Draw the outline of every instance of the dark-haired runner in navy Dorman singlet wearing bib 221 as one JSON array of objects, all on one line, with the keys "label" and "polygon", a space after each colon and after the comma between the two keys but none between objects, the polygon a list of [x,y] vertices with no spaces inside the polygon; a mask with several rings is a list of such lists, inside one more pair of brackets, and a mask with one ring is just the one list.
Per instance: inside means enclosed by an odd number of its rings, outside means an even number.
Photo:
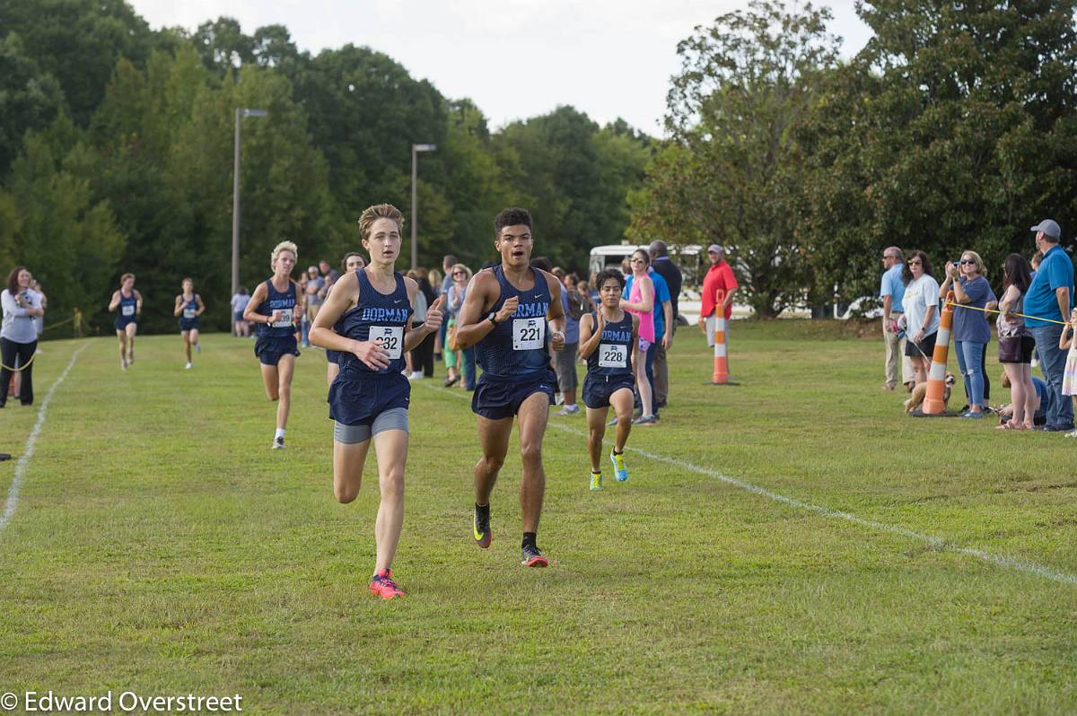
[{"label": "dark-haired runner in navy Dorman singlet wearing bib 221", "polygon": [[475,465],[472,531],[479,547],[490,546],[490,493],[505,462],[513,418],[517,417],[523,462],[520,563],[547,566],[536,533],[546,491],[542,439],[557,384],[549,349],[564,348],[561,283],[530,266],[534,239],[527,209],[505,209],[494,219],[493,227],[493,245],[501,254],[501,265],[472,278],[457,319],[457,342],[460,348],[475,346],[475,359],[482,368],[472,395],[482,446],[482,457]]}]

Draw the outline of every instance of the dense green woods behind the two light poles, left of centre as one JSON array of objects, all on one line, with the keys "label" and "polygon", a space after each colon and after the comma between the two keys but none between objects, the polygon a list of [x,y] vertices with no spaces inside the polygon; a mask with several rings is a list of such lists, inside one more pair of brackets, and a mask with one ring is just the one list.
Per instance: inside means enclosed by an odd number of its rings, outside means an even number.
[{"label": "dense green woods behind the two light poles, left of centre", "polygon": [[242,120],[250,289],[281,239],[298,243],[302,267],[336,265],[360,248],[365,207],[409,213],[412,143],[437,145],[419,160],[421,265],[453,253],[477,268],[493,216],[520,205],[542,253],[583,269],[590,245],[624,237],[628,191],[655,149],[625,122],[600,126],[571,107],[492,131],[474,102],[391,57],[300,52],[279,25],[246,34],[221,17],[154,31],[123,0],[3,0],[0,33],[0,266],[26,264],[54,315],[78,307],[103,331],[126,271],[145,328],[172,328],[186,276],[207,323],[228,325],[236,108],[268,112]]}]

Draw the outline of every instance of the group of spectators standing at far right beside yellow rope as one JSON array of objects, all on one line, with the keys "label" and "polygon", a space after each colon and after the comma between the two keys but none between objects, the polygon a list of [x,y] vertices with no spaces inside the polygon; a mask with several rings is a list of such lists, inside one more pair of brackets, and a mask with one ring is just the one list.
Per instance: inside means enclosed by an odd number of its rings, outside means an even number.
[{"label": "group of spectators standing at far right beside yellow rope", "polygon": [[[963,251],[941,268],[933,267],[923,251],[883,251],[883,390],[896,390],[899,363],[906,390],[928,379],[940,311],[952,296],[953,351],[966,398],[961,417],[979,420],[997,412],[999,430],[1039,429],[1077,437],[1074,264],[1061,247],[1057,222],[1047,219],[1031,230],[1035,253],[1029,261],[1019,253],[1006,256],[994,273],[998,293],[976,251]],[[989,359],[993,339],[995,360]],[[1009,403],[998,408],[990,404],[989,364],[994,363],[1002,364],[1002,385],[1010,391]],[[1036,365],[1043,379],[1033,375]]]}]

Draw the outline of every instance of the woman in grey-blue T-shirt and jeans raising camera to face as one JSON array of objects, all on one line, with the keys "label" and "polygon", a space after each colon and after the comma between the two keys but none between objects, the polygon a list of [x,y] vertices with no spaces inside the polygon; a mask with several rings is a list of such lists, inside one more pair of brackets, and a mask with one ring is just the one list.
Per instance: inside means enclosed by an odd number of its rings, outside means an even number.
[{"label": "woman in grey-blue T-shirt and jeans raising camera to face", "polygon": [[[954,265],[956,264],[956,265]],[[949,291],[957,304],[953,312],[953,348],[957,353],[957,367],[965,379],[968,410],[962,418],[980,419],[987,402],[983,398],[983,350],[991,341],[991,326],[982,310],[989,301],[998,300],[984,278],[983,259],[975,251],[965,251],[961,261],[947,263],[946,280],[939,287],[939,297],[946,300]],[[968,308],[963,308],[968,307]]]}]

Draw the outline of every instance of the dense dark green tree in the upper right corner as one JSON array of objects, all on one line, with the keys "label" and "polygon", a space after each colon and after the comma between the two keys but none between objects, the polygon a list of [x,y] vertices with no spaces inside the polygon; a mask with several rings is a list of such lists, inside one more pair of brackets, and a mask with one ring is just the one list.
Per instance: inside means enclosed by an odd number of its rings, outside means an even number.
[{"label": "dense dark green tree in the upper right corner", "polygon": [[[879,244],[933,258],[1030,253],[1027,227],[1072,227],[1077,160],[1073,1],[864,2],[880,73],[859,150]],[[992,277],[997,284],[997,273]]]}]

